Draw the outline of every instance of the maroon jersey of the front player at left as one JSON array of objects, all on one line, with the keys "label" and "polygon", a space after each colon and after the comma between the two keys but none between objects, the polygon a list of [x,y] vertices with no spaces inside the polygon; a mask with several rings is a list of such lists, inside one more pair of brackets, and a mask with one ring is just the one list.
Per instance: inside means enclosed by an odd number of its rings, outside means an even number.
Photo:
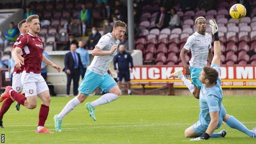
[{"label": "maroon jersey of the front player at left", "polygon": [[41,73],[41,62],[43,59],[43,42],[41,37],[36,37],[29,32],[21,38],[17,44],[25,52],[24,57],[24,71],[27,73]]}]

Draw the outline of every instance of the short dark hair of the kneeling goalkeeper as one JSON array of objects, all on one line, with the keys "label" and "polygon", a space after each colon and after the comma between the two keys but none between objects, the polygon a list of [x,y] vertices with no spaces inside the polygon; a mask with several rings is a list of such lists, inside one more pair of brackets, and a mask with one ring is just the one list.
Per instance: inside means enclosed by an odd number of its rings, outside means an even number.
[{"label": "short dark hair of the kneeling goalkeeper", "polygon": [[210,84],[213,84],[218,80],[219,73],[216,69],[210,66],[203,66],[203,71],[205,74],[205,79],[208,79]]}]

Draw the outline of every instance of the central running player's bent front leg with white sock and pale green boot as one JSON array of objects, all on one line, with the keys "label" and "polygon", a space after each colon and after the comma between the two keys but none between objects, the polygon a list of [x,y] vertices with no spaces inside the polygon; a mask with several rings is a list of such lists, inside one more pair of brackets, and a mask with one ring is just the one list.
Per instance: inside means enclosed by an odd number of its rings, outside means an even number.
[{"label": "central running player's bent front leg with white sock and pale green boot", "polygon": [[96,117],[94,114],[95,107],[115,101],[121,96],[121,90],[117,86],[117,82],[115,82],[114,79],[109,74],[104,75],[104,78],[101,82],[101,85],[99,85],[99,87],[101,87],[103,91],[109,91],[109,93],[104,94],[103,96],[96,99],[95,101],[91,103],[86,103],[85,105],[88,112],[90,113],[90,116],[94,121],[96,121]]}]

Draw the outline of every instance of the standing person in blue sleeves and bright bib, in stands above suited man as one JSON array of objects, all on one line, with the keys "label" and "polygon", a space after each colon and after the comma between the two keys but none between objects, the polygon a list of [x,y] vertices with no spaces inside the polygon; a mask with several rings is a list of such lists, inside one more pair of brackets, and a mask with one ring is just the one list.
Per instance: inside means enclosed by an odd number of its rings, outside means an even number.
[{"label": "standing person in blue sleeves and bright bib, in stands above suited man", "polygon": [[90,14],[90,11],[86,9],[85,4],[82,4],[81,7],[82,7],[82,10],[79,13],[79,20],[82,22],[82,35],[85,36],[86,25],[89,24],[91,14]]}]

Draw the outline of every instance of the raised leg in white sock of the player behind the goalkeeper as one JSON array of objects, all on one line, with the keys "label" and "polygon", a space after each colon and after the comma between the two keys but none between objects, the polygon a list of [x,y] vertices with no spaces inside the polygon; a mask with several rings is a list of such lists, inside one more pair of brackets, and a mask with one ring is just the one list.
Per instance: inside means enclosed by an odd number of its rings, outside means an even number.
[{"label": "raised leg in white sock of the player behind the goalkeeper", "polygon": [[192,85],[190,80],[187,80],[185,78],[185,76],[183,75],[181,70],[178,70],[178,71],[176,71],[174,73],[171,73],[171,75],[169,75],[168,78],[179,78],[179,79],[181,79],[185,83],[187,88],[190,90],[191,94],[193,94],[194,85]]}]

